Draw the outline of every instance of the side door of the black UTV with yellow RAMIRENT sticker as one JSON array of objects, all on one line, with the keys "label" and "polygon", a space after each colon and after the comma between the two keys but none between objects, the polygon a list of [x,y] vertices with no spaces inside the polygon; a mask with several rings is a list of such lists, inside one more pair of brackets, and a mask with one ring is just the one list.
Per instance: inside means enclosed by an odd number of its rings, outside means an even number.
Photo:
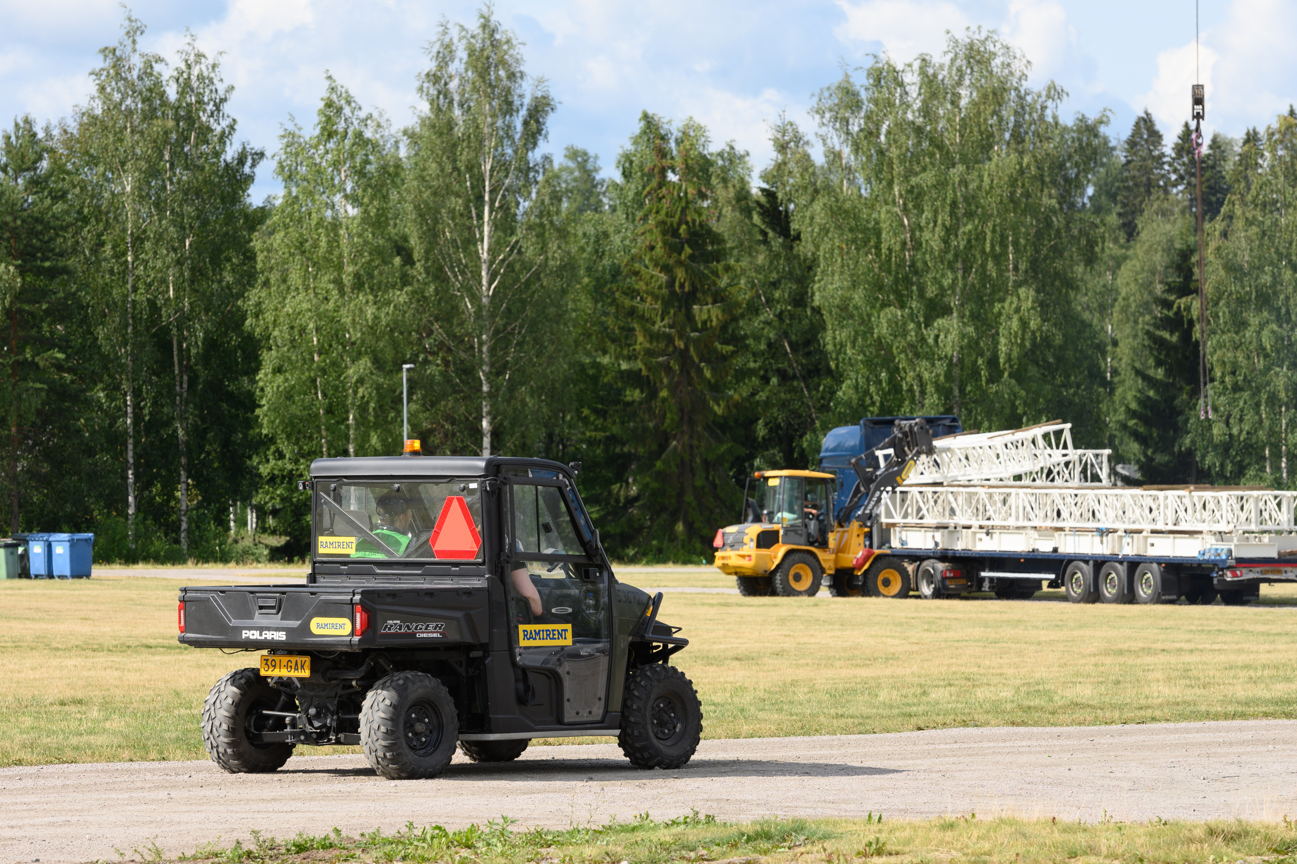
[{"label": "side door of the black UTV with yellow RAMIRENT sticker", "polygon": [[503,582],[520,701],[543,701],[543,683],[556,697],[554,722],[597,723],[608,701],[608,574],[581,544],[565,479],[507,477],[506,488]]}]

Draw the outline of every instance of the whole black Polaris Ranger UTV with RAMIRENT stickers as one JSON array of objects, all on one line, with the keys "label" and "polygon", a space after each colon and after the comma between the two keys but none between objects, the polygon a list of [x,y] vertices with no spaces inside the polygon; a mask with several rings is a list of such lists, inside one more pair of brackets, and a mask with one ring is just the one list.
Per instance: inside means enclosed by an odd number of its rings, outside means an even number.
[{"label": "whole black Polaris Ranger UTV with RAMIRENT stickers", "polygon": [[211,759],[275,771],[298,744],[361,745],[381,776],[432,777],[455,745],[515,759],[532,738],[617,736],[678,768],[702,734],[689,641],[661,595],[620,584],[573,486],[538,459],[320,459],[305,585],[180,592],[180,641],[265,652],[202,710]]}]

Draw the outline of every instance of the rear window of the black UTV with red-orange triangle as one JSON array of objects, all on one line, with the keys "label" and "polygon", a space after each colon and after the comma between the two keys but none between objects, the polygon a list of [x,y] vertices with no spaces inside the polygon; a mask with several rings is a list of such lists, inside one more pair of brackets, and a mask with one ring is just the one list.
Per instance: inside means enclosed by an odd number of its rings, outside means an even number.
[{"label": "rear window of the black UTV with red-orange triangle", "polygon": [[315,557],[482,560],[481,491],[473,479],[315,483]]}]

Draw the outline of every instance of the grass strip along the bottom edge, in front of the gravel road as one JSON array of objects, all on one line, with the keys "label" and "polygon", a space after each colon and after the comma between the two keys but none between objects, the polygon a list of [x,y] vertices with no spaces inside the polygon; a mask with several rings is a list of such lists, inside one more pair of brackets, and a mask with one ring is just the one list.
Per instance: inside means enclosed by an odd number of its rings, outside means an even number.
[{"label": "grass strip along the bottom edge, in front of the gravel road", "polygon": [[[882,821],[767,819],[720,823],[694,811],[658,823],[647,813],[601,828],[518,829],[501,819],[485,828],[447,830],[412,824],[396,833],[359,837],[298,834],[275,839],[254,834],[253,842],[208,845],[180,860],[220,864],[297,864],[314,861],[455,861],[538,864],[755,864],[815,861],[896,864],[969,861],[1023,864],[1032,861],[1237,861],[1294,860],[1293,824],[1258,821],[1083,824],[1053,819],[978,819],[968,816]],[[165,850],[137,850],[145,861],[169,860]]]}]

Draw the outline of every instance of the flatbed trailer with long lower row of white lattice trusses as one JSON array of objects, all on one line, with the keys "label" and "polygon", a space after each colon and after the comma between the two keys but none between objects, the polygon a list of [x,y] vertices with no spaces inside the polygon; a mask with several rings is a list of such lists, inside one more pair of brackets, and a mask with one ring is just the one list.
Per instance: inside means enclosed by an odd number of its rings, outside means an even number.
[{"label": "flatbed trailer with long lower row of white lattice trusses", "polygon": [[1049,587],[1073,602],[1241,605],[1297,582],[1294,505],[1297,492],[1239,487],[901,486],[869,567],[901,562],[922,596]]}]

